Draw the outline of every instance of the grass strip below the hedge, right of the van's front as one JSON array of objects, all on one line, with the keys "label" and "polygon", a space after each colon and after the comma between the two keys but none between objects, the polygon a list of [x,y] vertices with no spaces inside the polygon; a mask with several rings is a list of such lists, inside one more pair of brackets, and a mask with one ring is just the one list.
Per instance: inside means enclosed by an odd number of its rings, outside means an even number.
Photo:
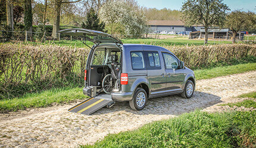
[{"label": "grass strip below the hedge, right of the van's front", "polygon": [[198,69],[194,70],[195,77],[197,80],[200,79],[211,79],[218,76],[232,75],[236,73],[248,72],[256,70],[256,63],[246,63],[232,66],[220,66],[211,69]]}]

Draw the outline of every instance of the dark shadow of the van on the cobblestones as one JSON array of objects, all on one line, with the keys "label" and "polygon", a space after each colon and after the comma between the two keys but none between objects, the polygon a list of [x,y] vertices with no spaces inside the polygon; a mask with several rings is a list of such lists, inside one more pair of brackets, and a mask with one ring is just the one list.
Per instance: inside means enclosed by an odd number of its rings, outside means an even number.
[{"label": "dark shadow of the van on the cobblestones", "polygon": [[148,104],[141,111],[134,111],[129,107],[129,102],[117,102],[111,108],[102,108],[92,115],[108,114],[110,112],[126,111],[138,115],[159,114],[159,115],[180,115],[197,108],[207,108],[222,102],[220,96],[195,91],[192,98],[185,99],[180,95],[169,95],[148,99]]}]

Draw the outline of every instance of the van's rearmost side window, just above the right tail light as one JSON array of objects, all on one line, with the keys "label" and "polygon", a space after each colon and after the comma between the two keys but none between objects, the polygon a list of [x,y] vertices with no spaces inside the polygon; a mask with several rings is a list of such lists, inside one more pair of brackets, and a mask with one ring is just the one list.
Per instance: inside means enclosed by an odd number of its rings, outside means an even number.
[{"label": "van's rearmost side window, just above the right tail light", "polygon": [[142,52],[131,52],[132,68],[133,69],[145,69],[145,63]]}]

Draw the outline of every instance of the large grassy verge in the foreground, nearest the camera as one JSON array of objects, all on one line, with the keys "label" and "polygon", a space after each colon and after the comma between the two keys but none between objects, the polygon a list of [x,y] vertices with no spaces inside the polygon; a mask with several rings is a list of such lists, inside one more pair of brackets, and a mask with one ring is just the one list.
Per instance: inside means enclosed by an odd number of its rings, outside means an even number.
[{"label": "large grassy verge in the foreground, nearest the camera", "polygon": [[254,147],[256,111],[195,111],[155,121],[134,131],[109,134],[82,147]]}]

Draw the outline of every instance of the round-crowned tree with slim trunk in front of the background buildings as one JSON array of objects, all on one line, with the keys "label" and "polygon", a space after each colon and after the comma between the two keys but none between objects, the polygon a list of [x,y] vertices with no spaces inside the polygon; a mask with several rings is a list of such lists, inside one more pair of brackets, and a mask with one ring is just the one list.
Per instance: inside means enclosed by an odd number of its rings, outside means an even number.
[{"label": "round-crowned tree with slim trunk in front of the background buildings", "polygon": [[182,18],[187,26],[203,25],[205,28],[204,43],[208,41],[208,29],[222,26],[229,10],[223,0],[187,0],[182,5]]}]

